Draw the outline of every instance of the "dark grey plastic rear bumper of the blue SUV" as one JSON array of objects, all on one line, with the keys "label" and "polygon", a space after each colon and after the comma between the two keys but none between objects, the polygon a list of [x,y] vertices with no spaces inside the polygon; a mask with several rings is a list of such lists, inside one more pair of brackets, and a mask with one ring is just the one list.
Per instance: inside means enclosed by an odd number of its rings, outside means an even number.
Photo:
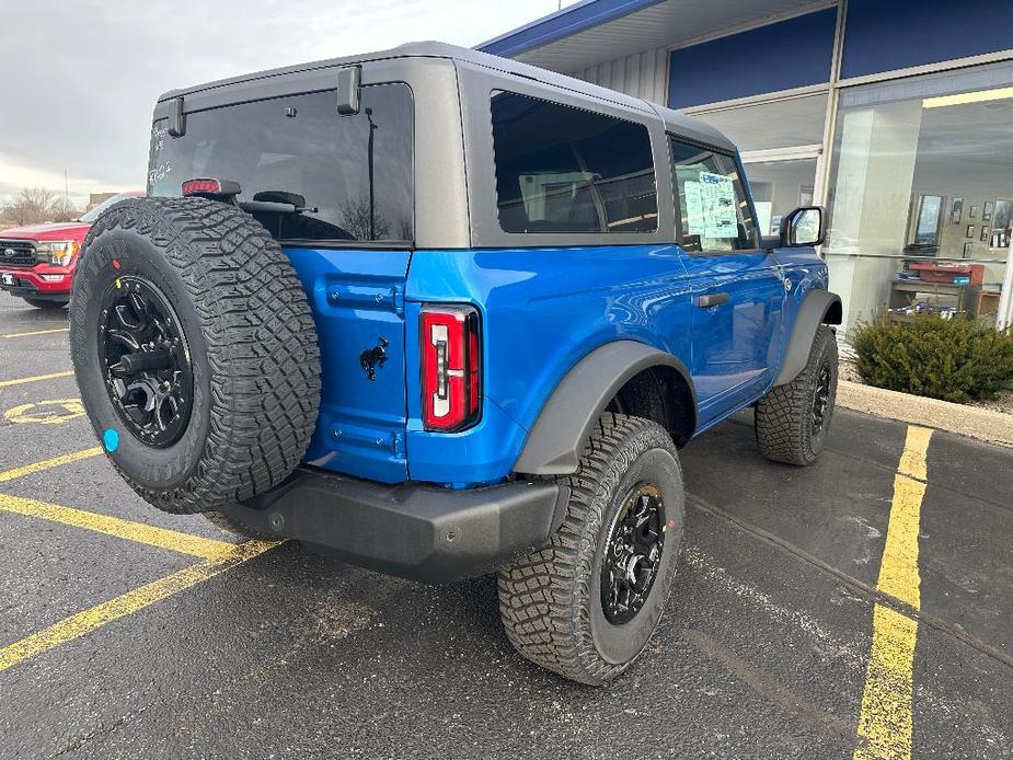
[{"label": "dark grey plastic rear bumper of the blue SUV", "polygon": [[451,491],[300,467],[275,491],[223,511],[353,564],[441,583],[482,575],[544,544],[562,525],[568,498],[565,487],[548,481]]}]

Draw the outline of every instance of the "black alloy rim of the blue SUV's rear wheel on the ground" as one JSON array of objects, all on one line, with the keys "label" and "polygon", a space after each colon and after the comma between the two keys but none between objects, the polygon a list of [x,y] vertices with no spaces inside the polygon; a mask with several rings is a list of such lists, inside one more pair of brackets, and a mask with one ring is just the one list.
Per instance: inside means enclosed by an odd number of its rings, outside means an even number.
[{"label": "black alloy rim of the blue SUV's rear wheel on the ground", "polygon": [[641,483],[615,514],[601,562],[601,609],[623,625],[643,609],[661,564],[665,505],[656,485]]}]

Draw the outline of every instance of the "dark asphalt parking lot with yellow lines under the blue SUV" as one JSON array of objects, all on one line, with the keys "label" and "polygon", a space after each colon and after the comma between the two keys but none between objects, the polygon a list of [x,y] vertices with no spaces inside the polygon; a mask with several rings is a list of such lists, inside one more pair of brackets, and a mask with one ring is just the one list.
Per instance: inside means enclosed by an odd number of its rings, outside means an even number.
[{"label": "dark asphalt parking lot with yellow lines under the blue SUV", "polygon": [[748,415],[702,436],[668,612],[591,689],[514,653],[490,578],[149,507],[66,325],[0,295],[4,759],[1013,757],[1013,450],[845,411],[807,470]]}]

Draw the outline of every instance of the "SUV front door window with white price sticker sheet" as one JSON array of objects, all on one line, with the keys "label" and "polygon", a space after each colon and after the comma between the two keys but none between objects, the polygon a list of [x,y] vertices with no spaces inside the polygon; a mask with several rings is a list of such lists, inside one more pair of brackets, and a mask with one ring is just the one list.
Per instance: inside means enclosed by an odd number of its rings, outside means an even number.
[{"label": "SUV front door window with white price sticker sheet", "polygon": [[735,159],[671,138],[671,160],[681,212],[679,244],[703,253],[756,249],[756,224]]}]

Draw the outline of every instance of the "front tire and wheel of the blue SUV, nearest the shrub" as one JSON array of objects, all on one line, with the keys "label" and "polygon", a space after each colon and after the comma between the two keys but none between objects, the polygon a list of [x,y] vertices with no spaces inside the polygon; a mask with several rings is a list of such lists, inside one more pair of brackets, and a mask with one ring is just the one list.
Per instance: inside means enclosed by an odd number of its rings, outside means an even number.
[{"label": "front tire and wheel of the blue SUV, nearest the shrub", "polygon": [[837,338],[820,325],[805,369],[757,402],[757,444],[764,457],[798,467],[816,461],[833,419],[837,376]]}]

